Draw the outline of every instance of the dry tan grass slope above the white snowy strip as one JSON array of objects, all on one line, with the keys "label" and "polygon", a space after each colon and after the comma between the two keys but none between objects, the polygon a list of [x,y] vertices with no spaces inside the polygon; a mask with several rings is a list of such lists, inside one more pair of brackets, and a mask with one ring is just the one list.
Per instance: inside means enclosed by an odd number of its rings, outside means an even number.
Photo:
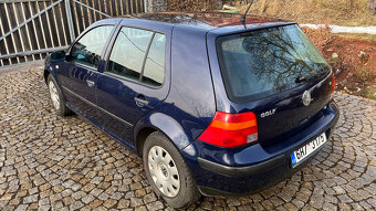
[{"label": "dry tan grass slope above the white snowy strip", "polygon": [[[293,20],[299,23],[338,24],[347,27],[376,25],[376,15],[368,8],[368,0],[268,0],[264,15]],[[243,12],[247,6],[238,8]],[[260,13],[261,1],[252,6]]]}]

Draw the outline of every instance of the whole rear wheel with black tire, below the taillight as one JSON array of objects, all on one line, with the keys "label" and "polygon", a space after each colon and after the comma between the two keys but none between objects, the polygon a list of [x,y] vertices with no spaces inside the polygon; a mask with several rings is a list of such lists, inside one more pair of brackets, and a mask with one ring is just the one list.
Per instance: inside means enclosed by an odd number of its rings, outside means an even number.
[{"label": "whole rear wheel with black tire, below the taillight", "polygon": [[170,207],[189,205],[201,196],[181,155],[161,133],[155,131],[146,138],[143,160],[154,192]]}]

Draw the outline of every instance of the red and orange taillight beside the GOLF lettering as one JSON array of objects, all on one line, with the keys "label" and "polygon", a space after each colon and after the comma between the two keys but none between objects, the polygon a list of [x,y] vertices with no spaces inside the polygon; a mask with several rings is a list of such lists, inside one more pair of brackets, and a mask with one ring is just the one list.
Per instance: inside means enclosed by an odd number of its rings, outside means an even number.
[{"label": "red and orange taillight beside the GOLF lettering", "polygon": [[198,138],[220,147],[238,147],[258,140],[258,123],[251,112],[229,114],[217,112],[209,127]]}]

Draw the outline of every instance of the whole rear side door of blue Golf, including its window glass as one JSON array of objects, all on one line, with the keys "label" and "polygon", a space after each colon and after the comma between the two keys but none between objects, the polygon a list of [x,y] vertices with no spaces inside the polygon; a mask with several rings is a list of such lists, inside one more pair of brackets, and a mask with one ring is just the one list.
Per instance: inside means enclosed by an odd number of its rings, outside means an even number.
[{"label": "whole rear side door of blue Golf, including its window glass", "polygon": [[119,28],[97,81],[97,105],[105,129],[133,140],[137,120],[167,97],[169,44],[164,31]]}]

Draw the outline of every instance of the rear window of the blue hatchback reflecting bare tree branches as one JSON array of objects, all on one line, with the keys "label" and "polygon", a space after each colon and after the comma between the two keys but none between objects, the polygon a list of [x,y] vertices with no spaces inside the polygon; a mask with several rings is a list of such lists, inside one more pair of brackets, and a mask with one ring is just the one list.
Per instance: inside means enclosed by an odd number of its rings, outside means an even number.
[{"label": "rear window of the blue hatchback reflecting bare tree branches", "polygon": [[217,50],[226,89],[236,102],[281,93],[330,70],[297,25],[220,36]]}]

